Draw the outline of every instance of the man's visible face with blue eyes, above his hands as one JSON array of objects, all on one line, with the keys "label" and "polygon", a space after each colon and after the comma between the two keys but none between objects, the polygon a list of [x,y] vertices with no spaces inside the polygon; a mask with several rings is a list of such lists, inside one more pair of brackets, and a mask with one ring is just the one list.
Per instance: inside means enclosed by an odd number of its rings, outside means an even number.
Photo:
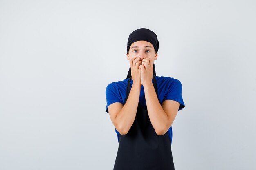
[{"label": "man's visible face with blue eyes, above his hands", "polygon": [[141,60],[148,58],[152,62],[152,65],[154,64],[154,60],[157,60],[157,53],[155,53],[154,46],[147,41],[136,41],[132,43],[126,56],[127,60],[131,60],[134,57],[139,57]]}]

